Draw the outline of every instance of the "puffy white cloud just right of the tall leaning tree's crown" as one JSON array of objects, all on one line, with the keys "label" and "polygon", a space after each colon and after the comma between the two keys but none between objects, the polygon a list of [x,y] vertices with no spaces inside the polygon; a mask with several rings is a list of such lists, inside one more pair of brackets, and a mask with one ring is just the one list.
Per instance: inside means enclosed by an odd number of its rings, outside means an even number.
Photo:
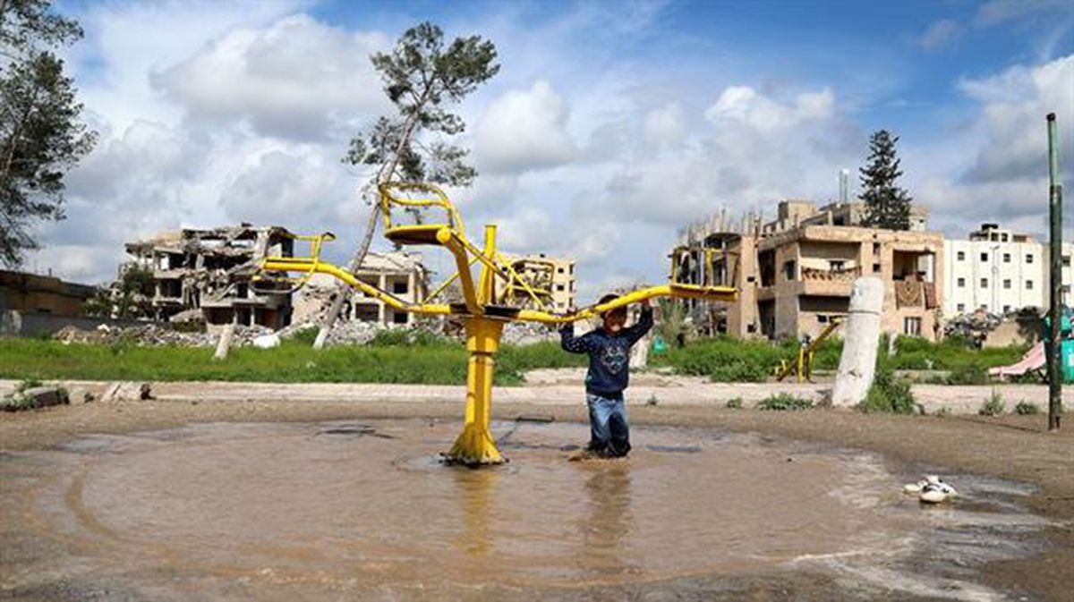
[{"label": "puffy white cloud just right of the tall leaning tree's crown", "polygon": [[522,173],[566,163],[576,153],[567,118],[563,98],[543,79],[528,90],[506,92],[478,120],[478,171]]}]

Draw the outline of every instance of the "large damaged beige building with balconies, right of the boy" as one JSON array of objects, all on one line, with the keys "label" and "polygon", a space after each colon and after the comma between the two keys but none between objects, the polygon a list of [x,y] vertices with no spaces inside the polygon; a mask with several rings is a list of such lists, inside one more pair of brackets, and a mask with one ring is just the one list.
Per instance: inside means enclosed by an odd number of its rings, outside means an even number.
[{"label": "large damaged beige building with balconies, right of the boy", "polygon": [[924,230],[923,209],[912,216],[918,230],[865,227],[858,205],[783,201],[768,223],[748,216],[688,232],[672,252],[672,278],[739,290],[735,303],[693,304],[694,325],[735,337],[815,337],[846,315],[854,281],[876,276],[884,332],[940,338],[943,235]]}]

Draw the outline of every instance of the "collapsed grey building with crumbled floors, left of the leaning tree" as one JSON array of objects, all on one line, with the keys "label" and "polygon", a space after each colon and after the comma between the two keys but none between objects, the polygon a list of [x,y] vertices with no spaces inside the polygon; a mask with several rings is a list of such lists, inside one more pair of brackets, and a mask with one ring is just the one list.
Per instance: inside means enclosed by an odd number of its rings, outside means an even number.
[{"label": "collapsed grey building with crumbled floors, left of the leaning tree", "polygon": [[243,223],[163,232],[126,249],[132,263],[153,271],[155,319],[200,313],[211,331],[232,322],[280,328],[291,320],[290,295],[255,291],[249,266],[265,256],[291,256],[293,244],[287,229]]}]

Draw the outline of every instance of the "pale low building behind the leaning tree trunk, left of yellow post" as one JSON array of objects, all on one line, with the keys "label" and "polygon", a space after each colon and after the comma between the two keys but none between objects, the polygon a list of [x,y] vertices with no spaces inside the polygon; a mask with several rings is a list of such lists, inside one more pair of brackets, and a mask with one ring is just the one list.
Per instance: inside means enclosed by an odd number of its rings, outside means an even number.
[{"label": "pale low building behind the leaning tree trunk, left of yellow post", "polygon": [[[422,303],[429,294],[429,271],[422,264],[421,253],[371,251],[362,262],[358,278],[407,303]],[[326,309],[326,299],[335,290],[336,280],[333,277],[326,274],[314,275],[293,299],[293,321],[318,322]],[[386,326],[410,326],[417,317],[413,313],[396,311],[380,299],[353,290],[344,304],[339,319],[379,322]]]}]

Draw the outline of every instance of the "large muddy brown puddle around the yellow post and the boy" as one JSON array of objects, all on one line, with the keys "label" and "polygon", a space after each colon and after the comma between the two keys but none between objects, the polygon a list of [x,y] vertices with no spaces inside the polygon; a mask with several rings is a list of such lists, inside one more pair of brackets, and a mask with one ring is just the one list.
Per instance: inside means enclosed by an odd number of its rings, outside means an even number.
[{"label": "large muddy brown puddle around the yellow post and the boy", "polygon": [[200,424],[5,454],[0,591],[575,599],[815,575],[846,597],[998,600],[975,567],[1039,550],[1046,525],[1018,503],[1031,488],[996,479],[957,476],[958,504],[920,506],[865,452],[642,427],[628,459],[571,462],[584,425],[503,423],[512,461],[471,470],[438,461],[456,429]]}]

